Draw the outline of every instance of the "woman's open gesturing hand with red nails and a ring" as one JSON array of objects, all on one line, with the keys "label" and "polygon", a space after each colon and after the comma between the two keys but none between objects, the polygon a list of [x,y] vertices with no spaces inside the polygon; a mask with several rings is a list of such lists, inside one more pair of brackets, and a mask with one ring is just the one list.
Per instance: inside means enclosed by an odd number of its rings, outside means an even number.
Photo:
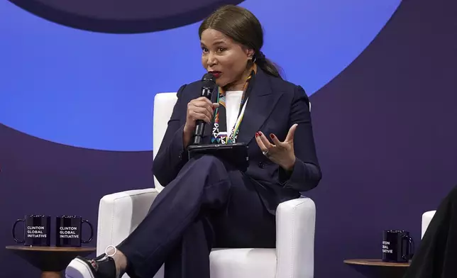
[{"label": "woman's open gesturing hand with red nails and a ring", "polygon": [[262,132],[255,133],[255,141],[263,154],[286,171],[292,171],[295,164],[294,133],[296,129],[297,123],[290,128],[284,142],[277,139],[276,135],[270,134],[273,144]]}]

